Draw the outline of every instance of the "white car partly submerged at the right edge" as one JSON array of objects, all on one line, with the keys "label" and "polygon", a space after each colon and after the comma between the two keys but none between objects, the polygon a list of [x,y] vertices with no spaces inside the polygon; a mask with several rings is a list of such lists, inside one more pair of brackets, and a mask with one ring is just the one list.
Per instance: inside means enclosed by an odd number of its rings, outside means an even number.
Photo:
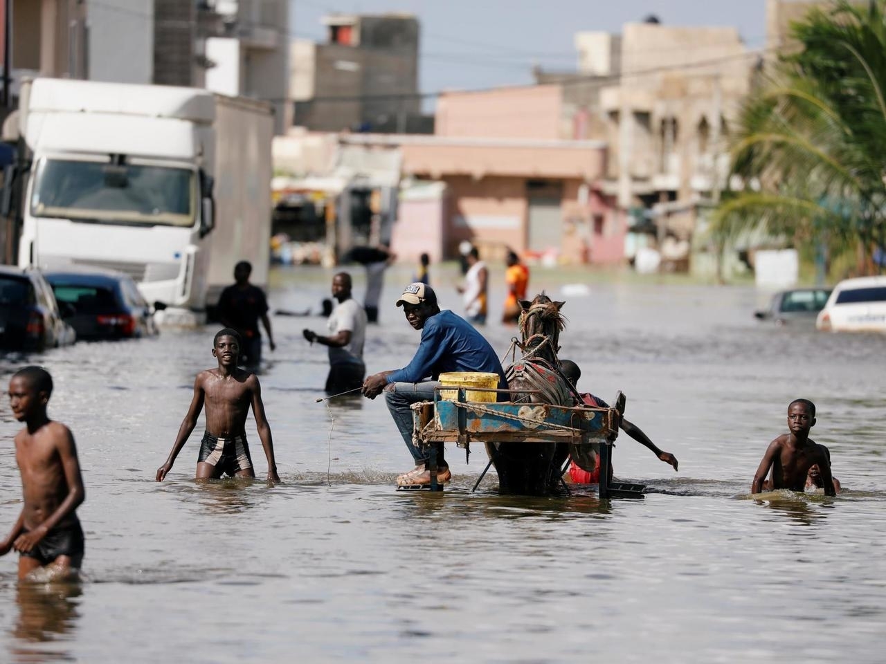
[{"label": "white car partly submerged at the right edge", "polygon": [[886,332],[886,276],[838,283],[815,327],[832,332]]}]

